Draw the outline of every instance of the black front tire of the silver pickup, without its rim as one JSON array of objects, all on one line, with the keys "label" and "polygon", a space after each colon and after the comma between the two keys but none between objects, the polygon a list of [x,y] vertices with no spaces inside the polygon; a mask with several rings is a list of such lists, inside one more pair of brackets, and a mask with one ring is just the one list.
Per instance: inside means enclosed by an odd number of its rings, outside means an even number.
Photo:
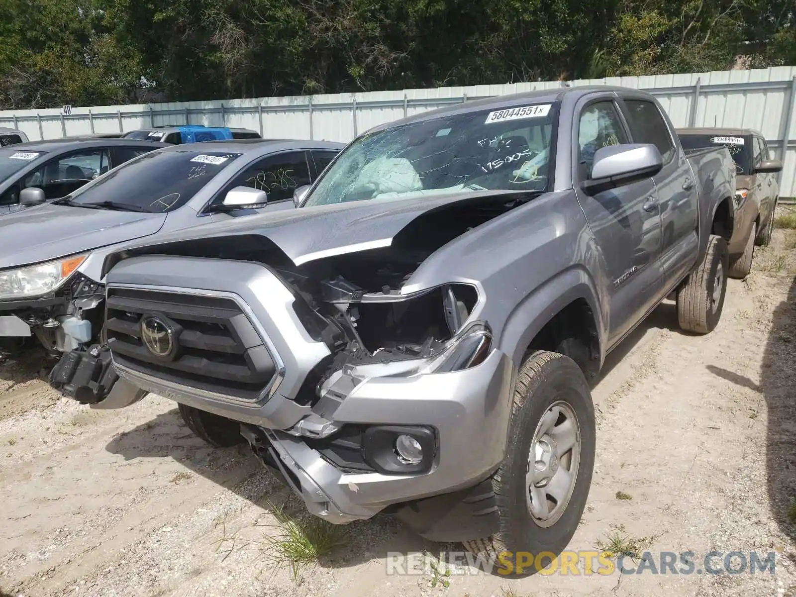
[{"label": "black front tire of the silver pickup, without its rim", "polygon": [[[561,403],[568,404],[577,421],[579,464],[574,486],[571,486],[572,493],[564,509],[556,520],[551,521],[552,524],[541,526],[529,511],[530,486],[526,484],[526,474],[533,466],[529,458],[530,448],[543,416]],[[574,453],[573,449],[570,458],[574,458]],[[553,470],[559,467],[566,469],[565,458]],[[501,568],[501,575],[529,576],[545,568],[552,558],[544,556],[537,569],[537,556],[543,552],[557,556],[575,534],[586,506],[594,460],[595,410],[583,372],[575,361],[563,354],[541,350],[531,353],[525,359],[514,386],[505,459],[492,477],[500,530],[492,537],[465,541],[465,547],[485,560],[494,561],[497,568]],[[572,466],[572,459],[569,466]],[[544,496],[545,502],[549,503],[548,494],[544,493]],[[511,552],[509,565],[506,565],[504,553],[507,551]],[[530,559],[533,564],[518,570],[517,563],[521,558],[526,562]]]}]

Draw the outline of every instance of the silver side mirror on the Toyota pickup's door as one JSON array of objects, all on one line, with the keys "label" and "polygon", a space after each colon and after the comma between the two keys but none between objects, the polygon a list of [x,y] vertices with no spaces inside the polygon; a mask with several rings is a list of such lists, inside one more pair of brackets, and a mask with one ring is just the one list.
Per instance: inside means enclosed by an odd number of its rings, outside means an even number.
[{"label": "silver side mirror on the Toyota pickup's door", "polygon": [[581,187],[591,197],[608,189],[650,178],[660,172],[662,167],[661,152],[650,143],[600,147],[595,151],[591,176]]}]

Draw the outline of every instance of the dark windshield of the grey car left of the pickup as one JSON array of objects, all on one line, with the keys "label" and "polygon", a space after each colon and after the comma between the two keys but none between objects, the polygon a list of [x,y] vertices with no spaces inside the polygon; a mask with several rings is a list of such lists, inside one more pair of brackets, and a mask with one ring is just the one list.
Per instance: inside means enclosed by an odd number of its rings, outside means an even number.
[{"label": "dark windshield of the grey car left of the pickup", "polygon": [[[164,213],[185,205],[240,154],[153,151],[127,162],[71,196],[67,205],[94,209]],[[111,180],[113,193],[105,183]]]}]

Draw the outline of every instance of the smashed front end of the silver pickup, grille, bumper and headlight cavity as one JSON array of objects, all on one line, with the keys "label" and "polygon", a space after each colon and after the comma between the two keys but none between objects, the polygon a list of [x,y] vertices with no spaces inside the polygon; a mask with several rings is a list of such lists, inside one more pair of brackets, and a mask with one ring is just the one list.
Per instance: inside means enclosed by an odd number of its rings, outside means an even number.
[{"label": "smashed front end of the silver pickup, grille, bumper and headlight cavity", "polygon": [[327,520],[392,511],[435,540],[487,536],[494,494],[482,482],[501,459],[512,365],[480,283],[413,275],[529,197],[437,200],[404,213],[386,242],[377,227],[298,256],[267,233],[111,256],[103,342],[65,356],[51,383],[92,408],[154,392],[236,421]]}]

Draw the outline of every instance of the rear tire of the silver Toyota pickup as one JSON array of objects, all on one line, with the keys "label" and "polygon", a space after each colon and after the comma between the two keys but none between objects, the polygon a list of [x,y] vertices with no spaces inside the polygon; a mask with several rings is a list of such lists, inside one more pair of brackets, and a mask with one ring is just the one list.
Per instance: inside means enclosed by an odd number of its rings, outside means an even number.
[{"label": "rear tire of the silver Toyota pickup", "polygon": [[[677,290],[677,319],[681,329],[696,334],[708,334],[716,328],[724,309],[724,296],[727,294],[728,267],[727,241],[712,234],[708,239],[708,251],[705,252],[704,260]],[[714,295],[720,271],[720,291]]]}]

